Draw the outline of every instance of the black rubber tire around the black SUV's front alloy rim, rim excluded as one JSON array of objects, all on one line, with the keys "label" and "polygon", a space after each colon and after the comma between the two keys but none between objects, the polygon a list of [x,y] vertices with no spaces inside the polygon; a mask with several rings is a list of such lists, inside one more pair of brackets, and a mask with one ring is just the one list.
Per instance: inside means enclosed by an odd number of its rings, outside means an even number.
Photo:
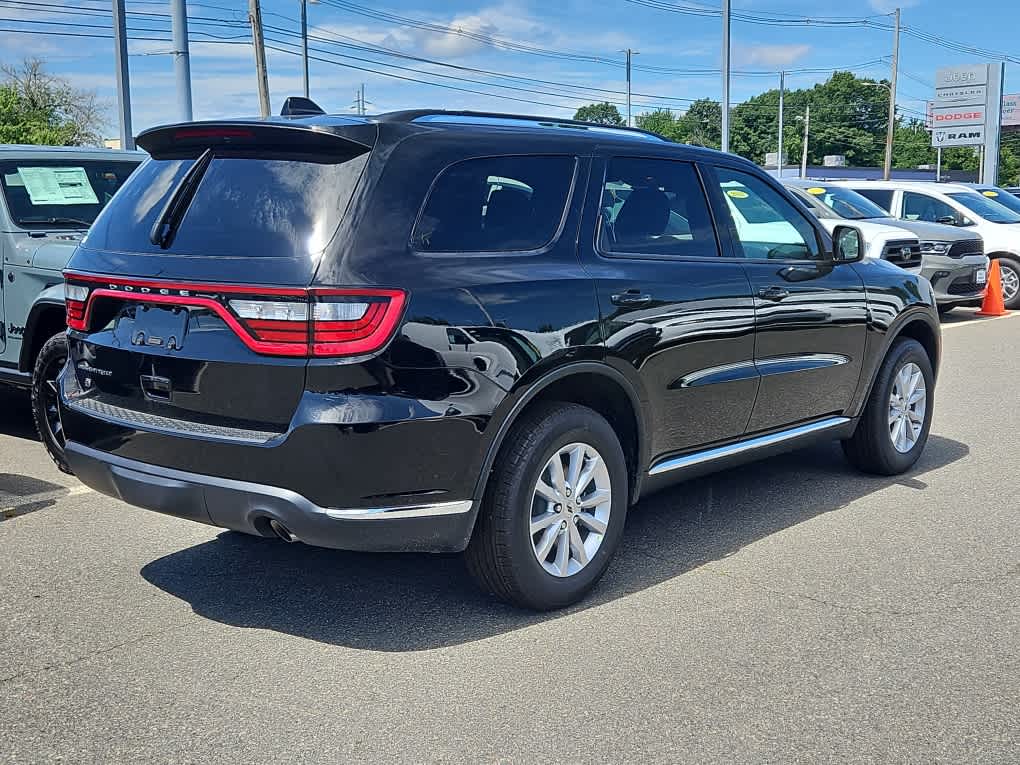
[{"label": "black rubber tire around the black SUV's front alloy rim, rim excluded", "polygon": [[[889,399],[896,375],[904,365],[914,363],[921,370],[926,391],[924,416],[917,442],[907,452],[899,451],[889,436]],[[843,442],[851,464],[867,473],[899,475],[917,462],[928,441],[934,411],[934,375],[924,347],[916,340],[902,338],[892,344],[882,361],[868,403],[854,435]]]}]

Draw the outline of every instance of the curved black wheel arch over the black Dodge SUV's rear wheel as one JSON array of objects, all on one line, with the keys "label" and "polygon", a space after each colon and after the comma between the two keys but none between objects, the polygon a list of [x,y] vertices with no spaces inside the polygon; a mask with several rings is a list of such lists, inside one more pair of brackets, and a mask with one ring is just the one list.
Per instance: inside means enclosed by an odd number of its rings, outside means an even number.
[{"label": "curved black wheel arch over the black Dodge SUV's rear wheel", "polygon": [[641,495],[643,466],[647,462],[645,421],[641,397],[634,385],[618,369],[598,361],[567,364],[546,373],[517,398],[503,416],[475,483],[473,499],[480,502],[493,465],[507,434],[528,407],[545,401],[580,404],[599,412],[616,430],[627,461],[631,504]]}]

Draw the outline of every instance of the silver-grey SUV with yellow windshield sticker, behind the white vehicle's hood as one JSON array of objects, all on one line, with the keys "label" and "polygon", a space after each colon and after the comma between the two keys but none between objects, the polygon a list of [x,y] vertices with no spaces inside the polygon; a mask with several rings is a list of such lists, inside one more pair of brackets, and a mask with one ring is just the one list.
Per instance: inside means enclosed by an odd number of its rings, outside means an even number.
[{"label": "silver-grey SUV with yellow windshield sticker, behind the white vehicle's hood", "polygon": [[819,181],[783,181],[822,222],[853,220],[902,228],[921,241],[922,276],[931,282],[938,312],[957,306],[977,305],[987,290],[988,258],[980,235],[952,225],[891,217],[870,199],[852,189]]}]

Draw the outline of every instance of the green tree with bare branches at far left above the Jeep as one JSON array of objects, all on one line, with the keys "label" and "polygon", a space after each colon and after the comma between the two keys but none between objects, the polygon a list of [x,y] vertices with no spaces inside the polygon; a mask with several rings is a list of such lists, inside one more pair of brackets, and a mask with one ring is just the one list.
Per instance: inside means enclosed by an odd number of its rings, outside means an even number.
[{"label": "green tree with bare branches at far left above the Jeep", "polygon": [[103,107],[96,94],[46,72],[38,59],[0,67],[0,143],[102,144]]}]

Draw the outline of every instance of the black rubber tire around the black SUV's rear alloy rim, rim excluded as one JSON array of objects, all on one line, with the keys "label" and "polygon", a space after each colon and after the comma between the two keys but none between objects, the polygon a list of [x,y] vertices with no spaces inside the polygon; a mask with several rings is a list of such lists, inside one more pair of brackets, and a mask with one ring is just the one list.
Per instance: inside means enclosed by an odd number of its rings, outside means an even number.
[{"label": "black rubber tire around the black SUV's rear alloy rim, rim excluded", "polygon": [[[532,493],[553,455],[574,443],[602,456],[611,506],[602,544],[590,562],[559,577],[543,567],[532,546]],[[623,533],[628,499],[626,460],[612,426],[588,407],[537,405],[514,423],[500,450],[465,552],[468,569],[483,590],[516,606],[546,611],[575,603],[609,566]]]}]

